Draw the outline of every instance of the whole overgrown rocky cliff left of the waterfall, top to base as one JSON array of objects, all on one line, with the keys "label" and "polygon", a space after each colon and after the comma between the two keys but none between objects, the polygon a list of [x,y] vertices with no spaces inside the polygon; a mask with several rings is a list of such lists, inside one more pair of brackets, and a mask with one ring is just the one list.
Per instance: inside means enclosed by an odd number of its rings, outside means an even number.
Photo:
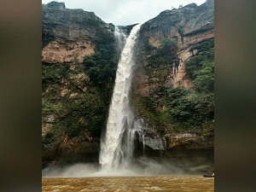
[{"label": "whole overgrown rocky cliff left of the waterfall, top to base", "polygon": [[96,55],[105,41],[106,49],[113,49],[114,26],[92,12],[56,2],[43,5],[42,20],[43,166],[95,162],[113,80],[102,89],[90,85],[83,61]]}]

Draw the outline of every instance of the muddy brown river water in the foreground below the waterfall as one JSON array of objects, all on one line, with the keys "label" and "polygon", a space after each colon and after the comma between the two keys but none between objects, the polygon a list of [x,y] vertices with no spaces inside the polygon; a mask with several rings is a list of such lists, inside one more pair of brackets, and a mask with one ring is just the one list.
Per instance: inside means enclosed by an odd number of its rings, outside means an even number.
[{"label": "muddy brown river water in the foreground below the waterfall", "polygon": [[43,192],[67,191],[168,191],[212,192],[214,178],[200,176],[153,177],[43,177]]}]

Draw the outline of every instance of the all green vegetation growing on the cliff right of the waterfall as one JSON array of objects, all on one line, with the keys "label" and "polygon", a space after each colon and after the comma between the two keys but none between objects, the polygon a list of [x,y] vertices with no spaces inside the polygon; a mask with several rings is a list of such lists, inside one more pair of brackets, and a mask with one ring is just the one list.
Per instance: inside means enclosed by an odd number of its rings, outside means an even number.
[{"label": "all green vegetation growing on the cliff right of the waterfall", "polygon": [[[148,119],[159,133],[165,133],[166,126],[172,126],[174,131],[178,132],[212,129],[214,122],[213,41],[214,39],[210,39],[201,44],[200,55],[191,57],[185,63],[187,75],[193,83],[191,90],[182,87],[172,89],[164,86],[163,82],[158,82],[159,88],[149,96],[135,99],[137,114]],[[154,73],[148,73],[149,77],[157,74],[155,71],[159,71],[161,66],[167,66],[173,60],[176,50],[175,42],[165,39],[157,52],[148,57],[148,66],[150,66],[148,72],[154,69]],[[167,71],[166,68],[163,67],[163,69],[161,74]]]}]

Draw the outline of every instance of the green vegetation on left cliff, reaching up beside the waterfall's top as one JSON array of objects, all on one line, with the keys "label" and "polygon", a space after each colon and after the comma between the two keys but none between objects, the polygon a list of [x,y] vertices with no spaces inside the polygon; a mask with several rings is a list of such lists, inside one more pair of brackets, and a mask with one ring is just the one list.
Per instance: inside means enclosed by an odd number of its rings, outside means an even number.
[{"label": "green vegetation on left cliff, reaching up beside the waterfall's top", "polygon": [[64,133],[68,138],[81,134],[99,138],[106,127],[119,55],[113,33],[100,30],[93,43],[96,53],[85,56],[83,63],[42,65],[43,124],[50,114],[55,116],[53,134],[45,136],[43,144],[57,142]]}]

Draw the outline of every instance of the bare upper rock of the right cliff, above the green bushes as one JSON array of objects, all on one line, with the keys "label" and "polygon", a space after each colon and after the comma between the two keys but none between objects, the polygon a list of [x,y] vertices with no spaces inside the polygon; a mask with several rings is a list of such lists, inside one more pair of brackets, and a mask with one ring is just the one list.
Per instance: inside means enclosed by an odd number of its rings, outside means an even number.
[{"label": "bare upper rock of the right cliff, above the green bushes", "polygon": [[[149,56],[146,50],[143,49],[146,43],[158,48],[165,38],[176,41],[178,47],[177,59],[169,63],[170,67],[166,72],[164,84],[173,88],[178,86],[190,88],[191,82],[186,77],[184,62],[189,60],[192,55],[198,54],[202,42],[214,38],[213,27],[213,0],[208,0],[201,6],[191,3],[180,9],[165,10],[142,26],[140,41],[142,60],[144,61]],[[141,96],[148,96],[162,82],[150,80],[158,77],[154,75],[148,77],[145,73],[147,63],[143,61],[138,63],[137,73],[134,77],[134,92]]]}]

